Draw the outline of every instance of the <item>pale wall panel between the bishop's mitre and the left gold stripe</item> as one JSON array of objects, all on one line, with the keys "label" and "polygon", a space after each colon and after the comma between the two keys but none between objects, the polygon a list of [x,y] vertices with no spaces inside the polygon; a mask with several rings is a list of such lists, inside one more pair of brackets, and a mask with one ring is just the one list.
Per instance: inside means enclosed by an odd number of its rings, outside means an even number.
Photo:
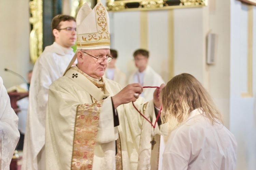
[{"label": "pale wall panel between the bishop's mitre and the left gold stripe", "polygon": [[111,48],[118,51],[116,65],[129,75],[136,69],[133,52],[140,47],[140,12],[110,12],[109,15]]}]

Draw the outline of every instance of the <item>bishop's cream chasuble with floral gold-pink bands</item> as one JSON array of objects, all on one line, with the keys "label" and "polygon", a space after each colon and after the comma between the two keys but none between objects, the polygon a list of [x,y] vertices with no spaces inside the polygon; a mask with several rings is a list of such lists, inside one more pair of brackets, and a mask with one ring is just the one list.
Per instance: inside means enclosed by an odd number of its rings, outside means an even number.
[{"label": "bishop's cream chasuble with floral gold-pink bands", "polygon": [[[114,127],[111,96],[120,89],[109,79],[93,81],[77,67],[53,82],[46,114],[46,169],[151,169],[151,124],[129,103],[116,108],[119,126]],[[143,101],[134,104],[154,121],[153,101]]]}]

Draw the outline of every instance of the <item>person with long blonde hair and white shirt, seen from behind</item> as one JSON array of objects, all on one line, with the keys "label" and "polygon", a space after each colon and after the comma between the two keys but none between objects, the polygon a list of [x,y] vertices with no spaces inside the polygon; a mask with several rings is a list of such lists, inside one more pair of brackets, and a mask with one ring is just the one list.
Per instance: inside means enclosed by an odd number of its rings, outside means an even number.
[{"label": "person with long blonde hair and white shirt, seen from behind", "polygon": [[210,94],[193,75],[176,75],[160,96],[161,118],[171,131],[163,152],[163,170],[235,169],[237,141],[223,125]]}]

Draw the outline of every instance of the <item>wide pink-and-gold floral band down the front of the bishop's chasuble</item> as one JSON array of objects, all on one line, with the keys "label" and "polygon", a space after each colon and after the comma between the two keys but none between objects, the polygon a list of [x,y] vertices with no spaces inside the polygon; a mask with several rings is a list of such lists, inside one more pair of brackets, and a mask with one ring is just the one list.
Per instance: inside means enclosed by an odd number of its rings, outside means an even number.
[{"label": "wide pink-and-gold floral band down the front of the bishop's chasuble", "polygon": [[[103,100],[77,106],[71,169],[92,169]],[[85,126],[86,124],[86,126]]]}]

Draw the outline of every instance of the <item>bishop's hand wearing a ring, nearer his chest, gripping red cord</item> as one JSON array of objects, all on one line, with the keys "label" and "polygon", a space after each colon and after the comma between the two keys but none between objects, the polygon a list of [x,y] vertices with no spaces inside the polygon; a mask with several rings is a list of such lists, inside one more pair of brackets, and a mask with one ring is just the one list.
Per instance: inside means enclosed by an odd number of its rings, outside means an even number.
[{"label": "bishop's hand wearing a ring, nearer his chest, gripping red cord", "polygon": [[142,93],[143,87],[139,83],[128,84],[125,88],[119,91],[118,94],[112,97],[114,107],[121,104],[135,102]]}]

